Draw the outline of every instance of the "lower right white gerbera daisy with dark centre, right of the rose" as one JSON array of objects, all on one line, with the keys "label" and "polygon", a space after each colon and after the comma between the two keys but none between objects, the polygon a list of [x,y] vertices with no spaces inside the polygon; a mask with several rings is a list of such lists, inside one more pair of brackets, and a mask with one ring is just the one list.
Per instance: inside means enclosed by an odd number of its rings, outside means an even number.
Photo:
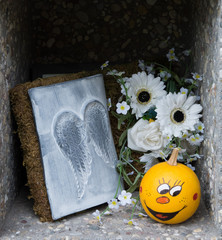
[{"label": "lower right white gerbera daisy with dark centre, right of the rose", "polygon": [[157,121],[163,135],[182,137],[187,130],[194,131],[202,110],[200,104],[194,104],[196,98],[186,94],[169,93],[156,104]]}]

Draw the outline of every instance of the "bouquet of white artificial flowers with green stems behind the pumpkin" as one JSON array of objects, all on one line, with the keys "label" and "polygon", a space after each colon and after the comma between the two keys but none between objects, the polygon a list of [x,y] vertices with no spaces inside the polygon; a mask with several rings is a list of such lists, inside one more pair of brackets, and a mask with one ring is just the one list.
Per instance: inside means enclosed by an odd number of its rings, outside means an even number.
[{"label": "bouquet of white artificial flowers with green stems behind the pumpkin", "polygon": [[[124,71],[109,69],[108,61],[101,66],[120,86],[121,96],[112,114],[118,119],[118,129],[124,128],[119,138],[117,168],[129,186],[127,192],[123,190],[119,197],[116,194],[110,200],[106,210],[132,203],[129,193],[138,188],[141,178],[153,164],[168,160],[175,147],[180,150],[178,162],[195,170],[194,162],[201,158],[199,146],[204,139],[204,124],[200,121],[202,106],[197,96],[202,76],[186,71],[179,77],[173,71],[180,59],[189,54],[190,51],[185,50],[179,57],[174,48],[170,49],[166,54],[169,67],[139,60],[141,71],[131,77],[124,77]],[[111,102],[109,99],[109,107]],[[139,154],[139,158],[135,158],[134,153]],[[130,175],[134,175],[133,180]],[[134,200],[133,211],[138,201],[139,198]]]}]

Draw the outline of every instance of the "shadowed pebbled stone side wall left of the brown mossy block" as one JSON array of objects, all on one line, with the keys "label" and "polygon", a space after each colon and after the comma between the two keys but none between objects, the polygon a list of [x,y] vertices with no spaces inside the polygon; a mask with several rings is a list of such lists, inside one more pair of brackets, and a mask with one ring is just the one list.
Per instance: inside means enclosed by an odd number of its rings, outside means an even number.
[{"label": "shadowed pebbled stone side wall left of the brown mossy block", "polygon": [[0,1],[0,228],[18,192],[19,150],[8,91],[29,72],[28,0]]}]

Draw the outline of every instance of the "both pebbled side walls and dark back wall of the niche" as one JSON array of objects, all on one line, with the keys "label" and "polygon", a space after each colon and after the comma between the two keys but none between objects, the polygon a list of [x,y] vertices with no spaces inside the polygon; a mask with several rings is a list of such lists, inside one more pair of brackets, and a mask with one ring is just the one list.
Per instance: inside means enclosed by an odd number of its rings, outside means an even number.
[{"label": "both pebbled side walls and dark back wall of the niche", "polygon": [[205,142],[197,174],[205,205],[222,229],[220,0],[0,0],[0,14],[0,227],[25,183],[8,90],[38,77],[39,69],[161,61],[175,47],[191,49],[192,70],[204,76]]}]

